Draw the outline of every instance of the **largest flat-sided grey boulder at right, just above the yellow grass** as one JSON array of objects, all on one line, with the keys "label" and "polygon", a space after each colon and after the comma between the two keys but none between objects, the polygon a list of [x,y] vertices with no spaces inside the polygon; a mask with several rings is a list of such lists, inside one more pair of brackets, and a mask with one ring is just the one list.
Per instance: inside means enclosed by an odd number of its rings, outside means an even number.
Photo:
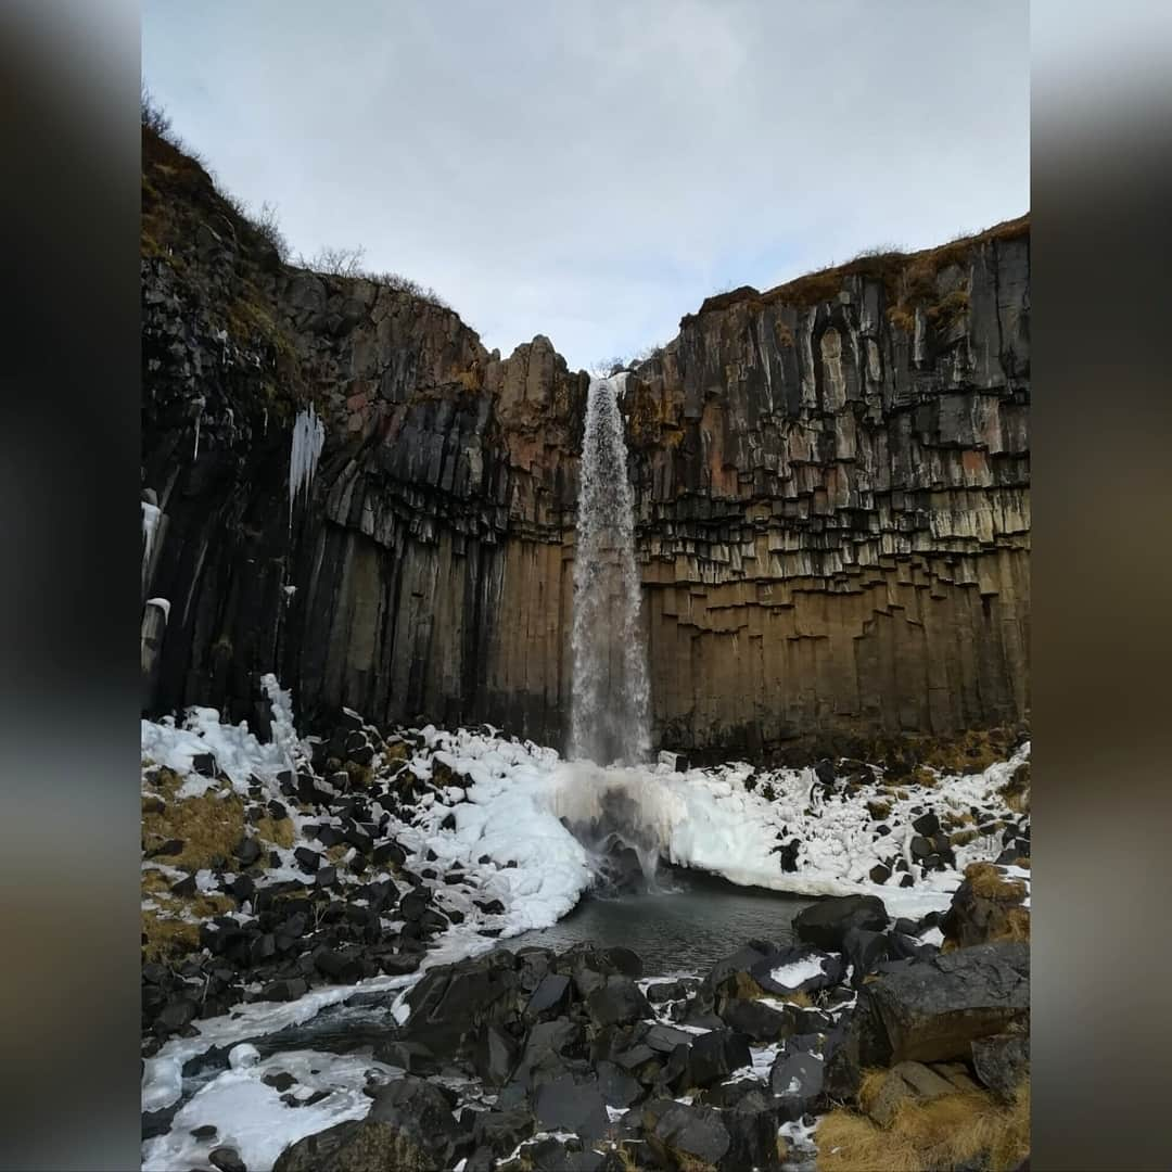
[{"label": "largest flat-sided grey boulder at right, just above the yellow grass", "polygon": [[976,1038],[1029,1020],[1026,945],[977,945],[885,969],[861,990],[860,1007],[866,1001],[881,1024],[892,1062],[968,1058]]}]

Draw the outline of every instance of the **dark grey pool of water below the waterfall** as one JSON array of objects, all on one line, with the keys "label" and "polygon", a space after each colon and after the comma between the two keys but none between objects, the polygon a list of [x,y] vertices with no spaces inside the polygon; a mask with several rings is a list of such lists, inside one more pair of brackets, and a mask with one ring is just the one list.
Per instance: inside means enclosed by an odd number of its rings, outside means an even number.
[{"label": "dark grey pool of water below the waterfall", "polygon": [[659,893],[612,898],[587,895],[550,928],[526,932],[502,943],[510,949],[537,945],[561,952],[586,942],[621,945],[642,958],[643,973],[703,974],[747,940],[793,940],[793,918],[815,900],[757,887],[737,887],[694,871],[660,872]]}]

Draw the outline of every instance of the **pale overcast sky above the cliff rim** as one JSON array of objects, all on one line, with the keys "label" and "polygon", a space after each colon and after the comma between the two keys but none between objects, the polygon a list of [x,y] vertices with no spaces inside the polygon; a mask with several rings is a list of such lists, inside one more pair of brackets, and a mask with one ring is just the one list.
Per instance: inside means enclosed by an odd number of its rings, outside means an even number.
[{"label": "pale overcast sky above the cliff rim", "polygon": [[571,367],[1029,206],[1026,0],[145,0],[143,74],[294,253]]}]

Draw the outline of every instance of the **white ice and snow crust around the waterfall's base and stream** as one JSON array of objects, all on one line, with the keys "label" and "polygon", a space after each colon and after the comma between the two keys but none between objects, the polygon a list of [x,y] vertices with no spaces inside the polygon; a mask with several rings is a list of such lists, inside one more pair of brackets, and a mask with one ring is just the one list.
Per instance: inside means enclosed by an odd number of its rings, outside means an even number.
[{"label": "white ice and snow crust around the waterfall's base and stream", "polygon": [[[255,778],[278,793],[277,775],[304,759],[308,747],[298,738],[288,693],[279,688],[273,676],[266,676],[264,682],[273,709],[271,741],[260,741],[245,723],[222,723],[214,709],[192,708],[182,723],[143,721],[144,768],[148,763],[166,765],[183,777],[180,798],[198,796],[214,783],[196,772],[192,763],[197,755],[212,752],[233,789],[246,792],[250,778]],[[404,849],[407,865],[413,870],[425,865],[422,860],[428,850],[436,856],[430,865],[441,871],[459,863],[476,884],[477,899],[499,900],[504,912],[486,917],[458,888],[437,887],[437,906],[458,908],[465,919],[436,941],[420,972],[374,977],[357,986],[327,986],[288,1003],[251,1002],[225,1016],[197,1021],[195,1036],[175,1037],[146,1059],[143,1110],[169,1108],[184,1093],[191,1095],[191,1086],[183,1079],[184,1064],[212,1048],[238,1045],[305,1023],[360,989],[397,994],[393,1013],[401,1021],[406,1016],[403,993],[428,968],[486,952],[511,936],[557,922],[592,885],[598,868],[598,860],[566,829],[564,820],[580,825],[600,817],[608,795],[622,798],[632,832],[656,843],[662,857],[673,864],[723,875],[735,884],[781,892],[875,894],[893,917],[921,917],[947,907],[968,863],[996,858],[1000,837],[982,836],[958,846],[955,867],[933,872],[907,888],[894,886],[898,874],[892,885],[868,881],[867,872],[879,861],[880,852],[890,858],[895,851],[908,850],[911,823],[917,816],[913,806],[931,810],[941,818],[947,813],[963,815],[976,805],[1001,808],[1003,803],[996,791],[1029,757],[1027,743],[1009,761],[999,762],[982,774],[941,777],[932,788],[901,784],[899,792],[906,797],[888,793],[884,798],[891,806],[886,820],[892,832],[877,837],[875,820],[866,808],[867,798],[875,795],[840,793],[826,799],[809,769],[759,772],[752,788],[747,789],[745,782],[754,770],[744,763],[687,771],[674,771],[662,764],[604,769],[564,761],[553,749],[507,740],[491,728],[443,731],[428,725],[413,731],[421,744],[406,768],[420,778],[430,779],[442,763],[462,784],[448,784],[438,793],[424,795],[414,811],[404,813],[409,822],[391,815],[387,834]],[[766,783],[772,800],[762,793]],[[377,803],[374,805],[377,811]],[[328,820],[292,808],[289,815],[297,831],[294,847],[309,841],[304,824]],[[442,829],[449,816],[455,819],[455,829]],[[793,838],[799,841],[797,870],[786,872],[779,864],[777,849],[782,840]],[[278,853],[286,865],[271,868],[263,881],[304,879],[292,850]],[[485,857],[486,861],[481,863]],[[1022,874],[1028,878],[1028,872]],[[500,929],[497,939],[479,934],[489,924]],[[278,1057],[286,1061],[288,1055]],[[379,1064],[359,1055],[346,1059],[331,1055],[316,1057],[332,1063],[329,1077],[336,1076],[333,1083],[336,1090],[328,1098],[313,1108],[289,1109],[260,1082],[257,1069],[230,1069],[188,1098],[168,1134],[144,1144],[144,1167],[178,1166],[176,1161],[186,1166],[185,1161],[196,1159],[199,1152],[191,1146],[189,1132],[199,1120],[217,1122],[218,1143],[229,1142],[223,1120],[236,1120],[229,1129],[231,1140],[251,1170],[263,1170],[272,1166],[280,1150],[274,1150],[265,1134],[279,1132],[284,1146],[301,1134],[360,1118],[370,1101],[361,1095],[359,1067],[366,1070]],[[280,1112],[279,1118],[275,1112]],[[297,1134],[289,1124],[281,1122],[286,1117],[291,1120],[295,1117]]]}]

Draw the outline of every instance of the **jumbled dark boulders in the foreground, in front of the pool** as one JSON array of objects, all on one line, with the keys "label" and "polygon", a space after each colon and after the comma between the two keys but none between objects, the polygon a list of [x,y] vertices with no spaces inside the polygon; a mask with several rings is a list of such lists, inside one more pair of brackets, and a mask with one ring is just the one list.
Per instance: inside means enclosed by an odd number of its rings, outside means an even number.
[{"label": "jumbled dark boulders in the foreground, in front of the pool", "polygon": [[[1003,936],[1022,895],[975,866],[927,924],[827,899],[798,943],[748,941],[703,979],[643,979],[626,948],[431,969],[374,1047],[366,1118],[291,1144],[274,1170],[742,1172],[809,1164],[813,1145],[830,1170],[1018,1167],[1029,949]],[[925,939],[940,933],[942,948]],[[974,934],[990,939],[958,947]],[[295,1099],[280,1057],[264,1083]],[[212,1166],[246,1166],[198,1130]]]}]

